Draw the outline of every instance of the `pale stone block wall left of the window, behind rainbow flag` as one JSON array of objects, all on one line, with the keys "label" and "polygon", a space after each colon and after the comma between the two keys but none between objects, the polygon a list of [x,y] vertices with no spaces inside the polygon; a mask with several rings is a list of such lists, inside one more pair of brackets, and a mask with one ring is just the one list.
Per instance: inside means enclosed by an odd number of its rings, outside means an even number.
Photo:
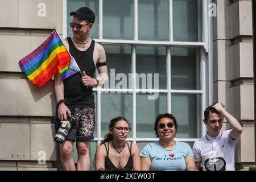
[{"label": "pale stone block wall left of the window, behind rainbow flag", "polygon": [[0,170],[56,170],[53,80],[37,89],[18,62],[53,28],[62,34],[63,1],[0,3]]}]

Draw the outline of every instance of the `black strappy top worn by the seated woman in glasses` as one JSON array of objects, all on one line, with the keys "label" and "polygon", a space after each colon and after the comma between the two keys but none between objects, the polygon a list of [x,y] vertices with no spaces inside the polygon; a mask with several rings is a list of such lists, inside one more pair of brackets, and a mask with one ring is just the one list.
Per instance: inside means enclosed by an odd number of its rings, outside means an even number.
[{"label": "black strappy top worn by the seated woman in glasses", "polygon": [[[131,146],[129,147],[129,144],[127,141],[126,141],[126,143],[129,148],[130,156],[129,156],[129,159],[124,168],[117,168],[114,166],[112,161],[109,159],[109,142],[108,142],[108,148],[107,148],[106,144],[104,143],[104,146],[105,146],[106,152],[107,152],[107,156],[105,158],[105,169],[106,170],[110,170],[110,171],[118,171],[118,170],[131,171],[131,170],[133,170],[133,156],[131,156]],[[133,142],[131,142],[131,144],[133,144]]]}]

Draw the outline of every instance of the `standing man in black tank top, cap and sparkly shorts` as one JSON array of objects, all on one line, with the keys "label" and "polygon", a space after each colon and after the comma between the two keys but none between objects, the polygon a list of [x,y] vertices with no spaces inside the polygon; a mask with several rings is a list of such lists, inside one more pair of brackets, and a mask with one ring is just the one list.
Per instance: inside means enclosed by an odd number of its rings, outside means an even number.
[{"label": "standing man in black tank top, cap and sparkly shorts", "polygon": [[[61,80],[60,74],[55,75],[55,94],[57,100],[58,115],[63,121],[68,116],[75,117],[75,125],[72,125],[67,138],[60,144],[60,159],[64,170],[89,170],[89,142],[93,139],[95,126],[93,86],[103,85],[108,80],[106,67],[106,54],[104,48],[90,38],[95,15],[88,7],[81,7],[70,13],[73,16],[69,25],[73,36],[64,39],[65,47],[75,58],[83,76],[79,73]],[[100,75],[93,78],[95,68]],[[56,131],[59,129],[56,124]],[[76,141],[77,168],[73,161],[73,142]]]}]

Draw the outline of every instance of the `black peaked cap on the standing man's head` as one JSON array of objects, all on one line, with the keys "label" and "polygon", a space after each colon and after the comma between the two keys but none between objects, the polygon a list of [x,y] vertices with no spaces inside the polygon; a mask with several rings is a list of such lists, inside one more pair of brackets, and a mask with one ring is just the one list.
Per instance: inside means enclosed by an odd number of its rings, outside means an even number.
[{"label": "black peaked cap on the standing man's head", "polygon": [[94,23],[95,14],[89,7],[80,7],[80,9],[71,12],[69,15],[76,15],[79,20],[88,20],[90,23]]}]

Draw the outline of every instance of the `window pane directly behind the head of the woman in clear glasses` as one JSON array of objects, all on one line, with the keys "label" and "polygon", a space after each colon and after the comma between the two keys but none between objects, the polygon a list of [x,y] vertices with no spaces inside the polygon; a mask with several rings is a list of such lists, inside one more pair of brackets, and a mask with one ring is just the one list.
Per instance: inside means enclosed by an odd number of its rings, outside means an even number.
[{"label": "window pane directly behind the head of the woman in clear glasses", "polygon": [[[101,136],[104,137],[109,132],[110,120],[115,117],[125,117],[132,128],[131,109],[133,97],[132,94],[108,94],[101,95]],[[132,136],[133,130],[128,137]]]}]

